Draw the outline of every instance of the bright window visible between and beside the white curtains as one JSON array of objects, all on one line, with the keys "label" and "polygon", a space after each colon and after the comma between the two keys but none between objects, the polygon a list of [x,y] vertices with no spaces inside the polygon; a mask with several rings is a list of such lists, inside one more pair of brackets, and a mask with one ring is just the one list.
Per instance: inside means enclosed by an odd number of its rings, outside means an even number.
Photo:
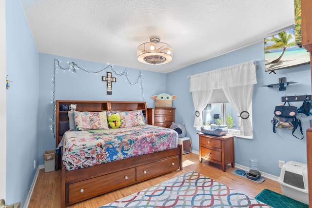
[{"label": "bright window visible between and beside the white curtains", "polygon": [[[250,119],[252,118],[252,104],[248,110]],[[242,136],[240,133],[240,116],[233,109],[230,103],[213,103],[207,104],[203,110],[203,125],[219,124],[228,125],[228,133],[237,137],[252,139],[253,136]]]}]

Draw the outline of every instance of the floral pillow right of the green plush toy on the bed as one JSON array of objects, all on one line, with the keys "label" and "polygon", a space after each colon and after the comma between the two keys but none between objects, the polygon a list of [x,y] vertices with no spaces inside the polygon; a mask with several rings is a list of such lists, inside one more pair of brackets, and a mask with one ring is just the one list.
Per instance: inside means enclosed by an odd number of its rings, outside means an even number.
[{"label": "floral pillow right of the green plush toy on the bed", "polygon": [[120,126],[119,128],[132,127],[138,125],[145,125],[144,118],[141,111],[112,111],[117,112],[120,115]]}]

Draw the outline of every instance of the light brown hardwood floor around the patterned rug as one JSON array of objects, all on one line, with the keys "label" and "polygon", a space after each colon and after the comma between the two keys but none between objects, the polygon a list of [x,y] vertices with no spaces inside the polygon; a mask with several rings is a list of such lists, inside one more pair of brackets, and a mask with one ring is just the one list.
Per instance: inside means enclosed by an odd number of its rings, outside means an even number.
[{"label": "light brown hardwood floor around the patterned rug", "polygon": [[[282,193],[280,184],[276,181],[267,179],[262,184],[257,184],[253,181],[234,175],[231,173],[234,169],[235,168],[231,167],[231,165],[227,165],[226,172],[223,172],[221,165],[209,163],[205,160],[203,160],[202,163],[199,163],[199,155],[188,153],[183,155],[182,171],[175,171],[129,187],[121,188],[119,190],[69,206],[68,208],[98,208],[114,200],[128,196],[136,191],[154,186],[190,171],[199,172],[202,175],[210,177],[211,179],[214,179],[228,187],[234,188],[235,190],[250,197],[255,197],[264,188],[273,190],[277,193]],[[60,181],[60,170],[45,173],[44,169],[40,169],[28,208],[59,208]]]}]

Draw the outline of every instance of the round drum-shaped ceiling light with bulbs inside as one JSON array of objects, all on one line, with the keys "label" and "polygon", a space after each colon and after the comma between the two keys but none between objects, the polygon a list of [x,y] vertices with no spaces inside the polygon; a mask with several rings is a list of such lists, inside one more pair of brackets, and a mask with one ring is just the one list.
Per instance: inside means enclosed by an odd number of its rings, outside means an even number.
[{"label": "round drum-shaped ceiling light with bulbs inside", "polygon": [[164,64],[172,60],[172,47],[160,42],[160,37],[150,37],[151,42],[137,46],[137,60],[147,64]]}]

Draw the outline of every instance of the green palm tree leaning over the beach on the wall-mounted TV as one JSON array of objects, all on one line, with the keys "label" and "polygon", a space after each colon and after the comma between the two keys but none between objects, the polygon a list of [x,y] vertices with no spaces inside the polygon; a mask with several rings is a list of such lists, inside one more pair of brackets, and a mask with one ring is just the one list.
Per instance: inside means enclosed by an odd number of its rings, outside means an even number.
[{"label": "green palm tree leaning over the beach on the wall-mounted TV", "polygon": [[270,41],[270,42],[274,43],[273,45],[266,46],[264,48],[265,51],[283,48],[282,54],[277,59],[272,61],[271,63],[279,62],[279,60],[284,55],[286,48],[295,45],[295,42],[289,42],[290,40],[292,40],[292,34],[288,34],[288,33],[286,33],[286,31],[278,33],[276,37],[272,36],[271,39],[265,40],[266,42]]}]

